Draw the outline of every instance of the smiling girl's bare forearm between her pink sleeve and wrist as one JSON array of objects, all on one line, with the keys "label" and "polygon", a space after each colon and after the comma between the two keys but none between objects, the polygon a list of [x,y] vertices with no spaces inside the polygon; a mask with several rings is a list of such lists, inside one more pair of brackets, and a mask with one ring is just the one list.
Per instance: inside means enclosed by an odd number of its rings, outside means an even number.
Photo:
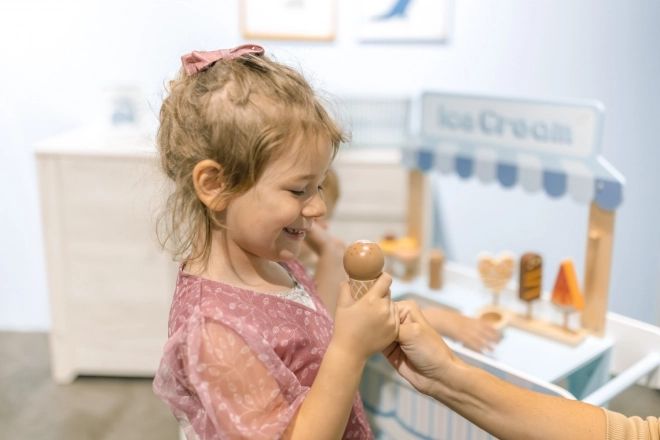
[{"label": "smiling girl's bare forearm between her pink sleeve and wrist", "polygon": [[309,393],[287,430],[290,440],[336,440],[346,429],[366,361],[332,343]]}]

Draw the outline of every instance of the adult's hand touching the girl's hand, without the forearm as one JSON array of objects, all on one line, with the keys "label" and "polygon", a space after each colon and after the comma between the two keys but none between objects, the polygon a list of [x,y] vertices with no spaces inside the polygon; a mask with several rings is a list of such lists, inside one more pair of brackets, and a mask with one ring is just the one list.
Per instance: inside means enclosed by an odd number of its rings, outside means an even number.
[{"label": "adult's hand touching the girl's hand, without the forearm", "polygon": [[424,318],[414,301],[396,303],[401,324],[397,341],[383,350],[394,369],[421,393],[431,395],[462,362]]}]

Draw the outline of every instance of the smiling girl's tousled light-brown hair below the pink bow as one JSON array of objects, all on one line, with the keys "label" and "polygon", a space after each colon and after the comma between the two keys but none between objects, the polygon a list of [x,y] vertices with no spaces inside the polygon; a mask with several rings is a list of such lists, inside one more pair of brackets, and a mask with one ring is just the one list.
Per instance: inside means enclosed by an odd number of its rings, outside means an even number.
[{"label": "smiling girl's tousled light-brown hair below the pink bow", "polygon": [[[169,83],[160,109],[160,166],[173,182],[158,217],[158,238],[176,260],[206,261],[217,216],[197,197],[193,169],[211,159],[222,168],[223,196],[250,189],[297,136],[328,139],[333,157],[347,134],[295,69],[265,56],[221,60]],[[304,153],[304,152],[303,152]]]}]

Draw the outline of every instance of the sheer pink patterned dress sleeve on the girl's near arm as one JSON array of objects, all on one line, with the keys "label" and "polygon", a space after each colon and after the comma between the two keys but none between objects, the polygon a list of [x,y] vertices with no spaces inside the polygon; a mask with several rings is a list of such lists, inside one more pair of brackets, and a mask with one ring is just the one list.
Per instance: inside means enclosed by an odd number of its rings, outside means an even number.
[{"label": "sheer pink patterned dress sleeve on the girl's near arm", "polygon": [[189,335],[183,363],[200,403],[191,424],[201,440],[277,439],[291,423],[309,388],[259,344],[215,321]]}]

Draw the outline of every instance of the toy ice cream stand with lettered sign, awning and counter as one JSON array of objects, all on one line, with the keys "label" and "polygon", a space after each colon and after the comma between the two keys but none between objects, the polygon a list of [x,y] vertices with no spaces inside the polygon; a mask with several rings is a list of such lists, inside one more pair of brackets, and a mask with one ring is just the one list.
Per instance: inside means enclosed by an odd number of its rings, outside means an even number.
[{"label": "toy ice cream stand with lettered sign, awning and counter", "polygon": [[[579,339],[558,342],[511,325],[487,356],[448,341],[457,355],[517,386],[599,406],[637,382],[660,388],[660,328],[607,312],[614,218],[624,179],[599,154],[602,106],[427,93],[421,117],[421,140],[402,154],[410,176],[407,238],[419,244],[420,255],[431,247],[425,236],[436,226],[427,212],[430,172],[496,180],[550,197],[568,193],[589,207],[584,307],[572,331]],[[468,316],[492,303],[476,269],[447,262],[442,279],[441,289],[429,288],[428,276],[395,279],[392,297]],[[520,308],[517,287],[508,283],[497,310]],[[535,315],[549,318],[553,307],[539,299]],[[610,380],[610,374],[617,376]],[[360,390],[379,439],[492,438],[417,393],[382,356],[368,364]]]}]

